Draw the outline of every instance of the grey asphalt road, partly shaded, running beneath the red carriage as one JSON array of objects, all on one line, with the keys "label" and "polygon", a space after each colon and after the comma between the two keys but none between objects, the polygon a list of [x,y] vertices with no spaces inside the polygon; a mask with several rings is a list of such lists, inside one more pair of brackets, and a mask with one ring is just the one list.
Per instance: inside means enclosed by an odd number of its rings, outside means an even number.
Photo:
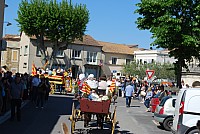
[{"label": "grey asphalt road, partly shaded, running beneath the red carriage", "polygon": [[[70,130],[70,121],[73,96],[51,95],[44,109],[36,109],[29,102],[22,109],[21,122],[7,120],[0,125],[1,134],[62,134],[62,123],[66,123]],[[116,134],[171,134],[153,121],[153,114],[145,111],[143,104],[132,100],[130,108],[125,107],[125,98],[117,99]],[[110,111],[114,109],[111,105]],[[104,130],[97,127],[84,128],[83,122],[76,123],[77,133],[110,134],[110,126],[105,124]]]}]

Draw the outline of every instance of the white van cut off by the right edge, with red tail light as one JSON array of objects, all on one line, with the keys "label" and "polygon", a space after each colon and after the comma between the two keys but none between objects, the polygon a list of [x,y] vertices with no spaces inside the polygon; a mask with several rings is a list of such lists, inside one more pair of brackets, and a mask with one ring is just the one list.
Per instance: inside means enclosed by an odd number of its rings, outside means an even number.
[{"label": "white van cut off by the right edge, with red tail light", "polygon": [[183,88],[179,91],[172,132],[174,134],[199,134],[196,127],[200,120],[200,88]]}]

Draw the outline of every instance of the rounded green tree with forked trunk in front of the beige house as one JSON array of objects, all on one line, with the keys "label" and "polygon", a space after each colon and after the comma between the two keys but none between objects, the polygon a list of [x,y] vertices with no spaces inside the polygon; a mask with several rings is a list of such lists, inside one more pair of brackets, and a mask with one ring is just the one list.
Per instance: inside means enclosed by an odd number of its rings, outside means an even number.
[{"label": "rounded green tree with forked trunk in front of the beige house", "polygon": [[[18,9],[20,31],[37,38],[38,47],[50,66],[60,49],[66,49],[75,39],[82,40],[89,22],[89,11],[85,5],[73,6],[62,0],[22,0]],[[51,55],[47,53],[44,39],[53,43]]]}]

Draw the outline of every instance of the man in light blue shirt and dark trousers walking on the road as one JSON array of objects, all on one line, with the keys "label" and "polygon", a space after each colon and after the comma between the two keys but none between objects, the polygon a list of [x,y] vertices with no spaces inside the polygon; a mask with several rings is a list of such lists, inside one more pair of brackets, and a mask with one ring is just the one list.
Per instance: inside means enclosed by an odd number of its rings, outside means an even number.
[{"label": "man in light blue shirt and dark trousers walking on the road", "polygon": [[131,97],[132,97],[133,92],[134,92],[134,87],[131,86],[130,79],[127,79],[126,84],[127,84],[127,86],[125,88],[125,93],[126,93],[126,107],[130,107],[130,105],[131,105]]}]

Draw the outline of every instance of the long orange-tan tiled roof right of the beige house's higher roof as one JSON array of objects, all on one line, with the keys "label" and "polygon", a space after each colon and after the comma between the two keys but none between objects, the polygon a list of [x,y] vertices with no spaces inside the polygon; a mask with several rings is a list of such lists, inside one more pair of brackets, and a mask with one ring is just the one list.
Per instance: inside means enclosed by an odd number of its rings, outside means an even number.
[{"label": "long orange-tan tiled roof right of the beige house's higher roof", "polygon": [[120,54],[129,54],[133,55],[134,51],[138,50],[137,47],[130,47],[124,44],[116,44],[116,43],[109,43],[98,41],[100,45],[103,46],[103,52],[107,53],[120,53]]}]

